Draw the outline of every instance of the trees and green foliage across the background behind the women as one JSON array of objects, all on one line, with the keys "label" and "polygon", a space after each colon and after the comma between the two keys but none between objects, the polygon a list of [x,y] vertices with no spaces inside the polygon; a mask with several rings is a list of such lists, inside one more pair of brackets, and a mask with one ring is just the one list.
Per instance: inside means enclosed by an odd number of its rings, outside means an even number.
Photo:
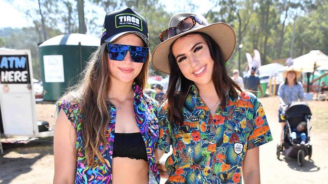
[{"label": "trees and green foliage across the background behind the women", "polygon": [[[78,14],[76,1],[73,0],[40,0],[41,13],[45,20],[42,27],[38,1],[28,0],[31,6],[17,6],[19,1],[9,1],[24,12],[33,25],[23,29],[0,30],[0,46],[7,48],[29,48],[32,52],[34,75],[38,75],[37,44],[63,33],[78,31]],[[136,10],[148,22],[151,51],[160,42],[158,35],[168,28],[171,16],[176,12],[193,12],[197,10],[194,1],[186,0],[176,3],[175,12],[167,12],[166,2],[159,0],[89,0],[84,1],[87,33],[98,35],[105,13],[123,7]],[[92,7],[86,8],[86,4]],[[238,46],[241,48],[241,69],[247,66],[245,53],[253,54],[259,50],[262,64],[272,60],[291,56],[293,42],[293,24],[296,23],[292,57],[298,57],[311,50],[321,50],[328,54],[328,1],[324,0],[209,0],[208,11],[203,15],[209,23],[226,22],[237,35],[235,52],[228,61],[228,71],[238,68]],[[97,9],[95,9],[97,8]],[[103,12],[99,12],[103,10]],[[97,22],[97,20],[100,20]],[[150,64],[150,75],[166,75],[154,70]],[[38,78],[39,79],[39,78]]]}]

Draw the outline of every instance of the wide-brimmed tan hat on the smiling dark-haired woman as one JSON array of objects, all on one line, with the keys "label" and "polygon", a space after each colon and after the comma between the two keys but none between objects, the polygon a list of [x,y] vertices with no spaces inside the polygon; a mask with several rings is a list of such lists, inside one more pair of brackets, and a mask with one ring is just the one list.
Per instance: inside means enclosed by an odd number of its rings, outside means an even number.
[{"label": "wide-brimmed tan hat on the smiling dark-haired woman", "polygon": [[[201,15],[194,13],[178,13],[171,18],[169,28],[177,26],[180,21],[188,16],[195,16],[207,24],[206,19]],[[193,27],[191,30],[182,32],[157,45],[151,58],[153,67],[158,71],[170,74],[168,56],[170,53],[171,44],[181,36],[192,32],[202,32],[209,35],[217,43],[217,45],[220,46],[225,62],[228,61],[235,50],[236,34],[231,26],[222,22],[213,23],[206,26],[196,23],[195,27]]]}]

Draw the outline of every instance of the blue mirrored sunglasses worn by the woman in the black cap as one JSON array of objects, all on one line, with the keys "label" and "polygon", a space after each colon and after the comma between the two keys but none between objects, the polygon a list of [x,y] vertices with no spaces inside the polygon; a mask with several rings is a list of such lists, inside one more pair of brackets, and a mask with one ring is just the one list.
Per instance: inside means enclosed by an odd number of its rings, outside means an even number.
[{"label": "blue mirrored sunglasses worn by the woman in the black cap", "polygon": [[120,44],[107,44],[108,53],[110,58],[116,61],[123,61],[128,51],[133,62],[144,63],[146,62],[149,48],[141,46],[130,46]]}]

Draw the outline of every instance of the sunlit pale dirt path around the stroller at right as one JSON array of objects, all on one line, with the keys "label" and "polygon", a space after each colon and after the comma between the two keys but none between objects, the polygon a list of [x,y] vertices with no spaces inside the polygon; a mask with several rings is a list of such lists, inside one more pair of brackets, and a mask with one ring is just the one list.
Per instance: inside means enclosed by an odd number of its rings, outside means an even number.
[{"label": "sunlit pale dirt path around the stroller at right", "polygon": [[[261,99],[261,102],[268,118],[274,140],[260,147],[260,169],[261,183],[326,183],[328,174],[328,161],[326,155],[328,152],[328,133],[322,130],[319,123],[327,123],[327,119],[318,120],[316,109],[324,108],[328,111],[328,102],[309,102],[312,110],[312,130],[311,142],[313,147],[312,160],[305,157],[303,166],[298,166],[297,160],[286,158],[281,155],[281,160],[276,158],[276,145],[280,140],[280,125],[278,124],[278,100],[277,98]],[[313,111],[314,110],[314,111]],[[321,122],[322,121],[322,122]],[[314,124],[317,123],[317,124]]]}]

